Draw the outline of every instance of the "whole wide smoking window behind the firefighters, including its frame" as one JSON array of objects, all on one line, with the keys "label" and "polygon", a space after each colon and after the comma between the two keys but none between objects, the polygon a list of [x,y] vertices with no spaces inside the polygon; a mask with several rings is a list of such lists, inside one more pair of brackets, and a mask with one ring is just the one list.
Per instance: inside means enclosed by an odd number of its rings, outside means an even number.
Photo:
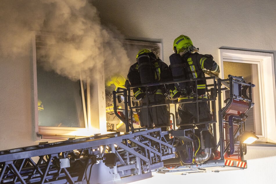
[{"label": "whole wide smoking window behind the firefighters, including its frame", "polygon": [[[89,80],[89,74],[83,72],[77,74],[76,80],[71,80],[45,68],[45,58],[40,53],[46,48],[55,47],[47,42],[51,37],[57,35],[42,32],[35,32],[33,35],[35,132],[43,139],[66,139],[106,133],[105,101],[102,95],[104,64],[98,62],[90,72],[93,75],[96,73],[98,77],[94,81]],[[126,67],[127,71],[122,71],[122,75],[127,74],[130,65],[135,62],[136,54],[142,48],[152,49],[162,59],[160,43],[131,40],[121,42],[131,59]]]}]

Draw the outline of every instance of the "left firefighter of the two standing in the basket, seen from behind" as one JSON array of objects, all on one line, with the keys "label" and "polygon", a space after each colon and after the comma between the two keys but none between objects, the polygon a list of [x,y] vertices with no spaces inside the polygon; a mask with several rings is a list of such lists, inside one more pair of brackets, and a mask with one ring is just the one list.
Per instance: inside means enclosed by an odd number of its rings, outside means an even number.
[{"label": "left firefighter of the two standing in the basket, seen from behind", "polygon": [[[129,68],[125,86],[167,82],[169,75],[168,65],[157,58],[151,50],[144,48],[137,53],[136,63]],[[147,89],[145,87],[139,87],[133,88],[132,90],[139,106],[145,106],[147,103],[150,105],[165,104],[164,94],[167,93],[167,89],[164,85],[149,86]],[[168,91],[172,98],[177,98],[181,94],[174,86]],[[167,105],[140,108],[138,116],[141,127],[162,127],[162,131],[165,131],[165,126],[169,126]]]}]

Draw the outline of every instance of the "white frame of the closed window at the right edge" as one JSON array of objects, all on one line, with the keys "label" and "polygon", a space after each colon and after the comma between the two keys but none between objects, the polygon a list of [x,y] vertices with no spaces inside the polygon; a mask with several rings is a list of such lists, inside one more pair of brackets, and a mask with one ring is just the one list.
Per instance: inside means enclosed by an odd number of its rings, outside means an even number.
[{"label": "white frame of the closed window at the right edge", "polygon": [[224,76],[223,61],[258,65],[258,72],[260,74],[261,127],[263,134],[257,135],[259,137],[258,142],[276,143],[276,88],[273,53],[219,49],[219,58],[221,65],[221,77]]}]

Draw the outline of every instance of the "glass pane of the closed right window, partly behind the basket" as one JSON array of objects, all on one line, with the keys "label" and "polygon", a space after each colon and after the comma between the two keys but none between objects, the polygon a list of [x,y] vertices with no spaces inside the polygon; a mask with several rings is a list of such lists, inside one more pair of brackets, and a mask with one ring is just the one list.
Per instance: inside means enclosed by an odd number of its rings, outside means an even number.
[{"label": "glass pane of the closed right window, partly behind the basket", "polygon": [[[255,103],[247,115],[246,129],[253,130],[257,135],[262,135],[261,129],[261,102],[260,102],[260,85],[258,65],[250,63],[239,62],[223,62],[224,78],[228,78],[228,74],[234,76],[243,76],[246,82],[255,84],[256,87],[252,88],[252,101]],[[226,91],[226,98],[229,96],[229,91]]]}]

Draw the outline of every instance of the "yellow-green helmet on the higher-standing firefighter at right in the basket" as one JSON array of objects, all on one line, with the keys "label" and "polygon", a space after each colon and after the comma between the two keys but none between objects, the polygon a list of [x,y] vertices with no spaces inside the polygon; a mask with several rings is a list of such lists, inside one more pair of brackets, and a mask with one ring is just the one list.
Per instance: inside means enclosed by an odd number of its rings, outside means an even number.
[{"label": "yellow-green helmet on the higher-standing firefighter at right in the basket", "polygon": [[190,46],[193,46],[192,40],[185,35],[180,35],[174,40],[174,53],[179,54],[185,50],[188,50]]}]

